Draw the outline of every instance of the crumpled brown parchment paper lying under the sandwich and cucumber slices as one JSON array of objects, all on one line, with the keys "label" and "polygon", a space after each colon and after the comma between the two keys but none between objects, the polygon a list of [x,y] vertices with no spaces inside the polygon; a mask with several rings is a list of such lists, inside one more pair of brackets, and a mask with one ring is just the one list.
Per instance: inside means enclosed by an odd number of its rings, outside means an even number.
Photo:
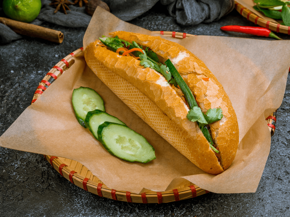
[{"label": "crumpled brown parchment paper lying under the sandwich and cucumber slices", "polygon": [[[153,35],[98,7],[85,33],[84,49],[97,37],[116,30]],[[7,129],[0,137],[0,145],[79,161],[109,188],[117,190],[165,191],[189,180],[216,193],[255,192],[270,150],[265,117],[282,102],[290,65],[290,50],[285,47],[290,42],[216,36],[165,38],[180,43],[203,60],[231,99],[238,118],[240,144],[225,172],[207,174],[176,151],[95,76],[83,55],[75,56],[75,63]],[[153,145],[156,159],[141,164],[111,156],[76,121],[71,95],[79,86],[95,89],[104,99],[107,113]]]}]

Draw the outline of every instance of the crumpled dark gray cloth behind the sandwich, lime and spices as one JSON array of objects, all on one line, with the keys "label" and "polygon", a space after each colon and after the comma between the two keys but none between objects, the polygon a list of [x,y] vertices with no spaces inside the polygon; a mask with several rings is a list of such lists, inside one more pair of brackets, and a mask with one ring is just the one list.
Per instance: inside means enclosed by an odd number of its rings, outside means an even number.
[{"label": "crumpled dark gray cloth behind the sandwich, lime and spices", "polygon": [[[72,0],[71,0],[72,1]],[[159,0],[104,0],[115,16],[129,21],[151,9]],[[160,0],[167,7],[169,14],[182,25],[197,25],[219,20],[234,8],[234,0]],[[67,15],[62,12],[54,13],[49,0],[41,0],[42,8],[37,19],[32,24],[41,25],[44,21],[66,27],[87,27],[91,16],[85,12],[85,7],[70,5]],[[3,16],[0,8],[0,15]],[[0,43],[6,44],[21,36],[9,27],[0,23]]]}]

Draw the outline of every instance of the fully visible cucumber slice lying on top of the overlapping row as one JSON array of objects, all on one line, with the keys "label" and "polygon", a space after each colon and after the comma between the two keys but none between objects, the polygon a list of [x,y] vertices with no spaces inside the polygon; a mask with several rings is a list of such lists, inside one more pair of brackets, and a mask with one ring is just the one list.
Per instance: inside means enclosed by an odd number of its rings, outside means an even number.
[{"label": "fully visible cucumber slice lying on top of the overlapping row", "polygon": [[98,138],[109,153],[124,161],[147,163],[156,159],[145,137],[127,126],[106,121],[98,128]]}]

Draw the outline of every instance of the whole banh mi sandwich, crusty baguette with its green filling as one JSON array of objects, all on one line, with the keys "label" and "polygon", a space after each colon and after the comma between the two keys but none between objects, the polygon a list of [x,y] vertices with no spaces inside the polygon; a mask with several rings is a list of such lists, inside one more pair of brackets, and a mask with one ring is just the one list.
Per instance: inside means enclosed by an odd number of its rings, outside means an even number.
[{"label": "whole banh mi sandwich, crusty baguette with its green filling", "polygon": [[228,95],[183,46],[116,31],[84,51],[87,65],[139,117],[202,170],[219,174],[239,143]]}]

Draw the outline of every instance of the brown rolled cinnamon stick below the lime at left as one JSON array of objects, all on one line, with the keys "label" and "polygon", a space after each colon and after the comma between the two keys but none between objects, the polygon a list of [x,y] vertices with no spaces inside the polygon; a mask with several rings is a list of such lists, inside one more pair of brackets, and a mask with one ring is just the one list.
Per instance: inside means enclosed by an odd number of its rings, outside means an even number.
[{"label": "brown rolled cinnamon stick below the lime at left", "polygon": [[45,28],[30,23],[23,23],[4,17],[0,17],[0,22],[21,35],[26,35],[34,38],[42,38],[56,43],[62,43],[63,41],[63,33],[61,31],[56,31],[50,28]]}]

